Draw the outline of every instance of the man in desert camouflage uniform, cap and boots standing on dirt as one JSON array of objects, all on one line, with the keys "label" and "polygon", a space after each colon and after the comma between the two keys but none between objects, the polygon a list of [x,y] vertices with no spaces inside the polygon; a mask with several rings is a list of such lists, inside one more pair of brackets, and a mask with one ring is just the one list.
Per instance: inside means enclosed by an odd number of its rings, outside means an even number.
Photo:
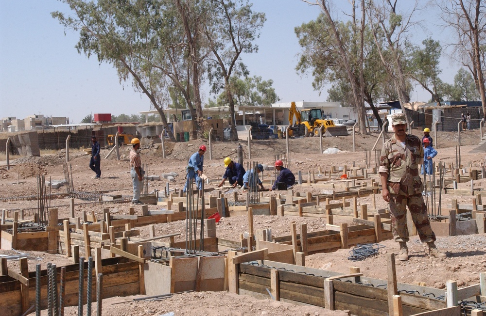
[{"label": "man in desert camouflage uniform, cap and boots standing on dirt", "polygon": [[422,143],[418,137],[406,133],[405,114],[394,114],[392,127],[395,134],[383,145],[378,172],[382,180],[383,200],[390,205],[393,237],[400,244],[398,259],[408,260],[407,206],[420,240],[429,245],[431,255],[444,258],[446,254],[435,247],[435,234],[422,197],[423,185],[417,167],[423,161]]}]

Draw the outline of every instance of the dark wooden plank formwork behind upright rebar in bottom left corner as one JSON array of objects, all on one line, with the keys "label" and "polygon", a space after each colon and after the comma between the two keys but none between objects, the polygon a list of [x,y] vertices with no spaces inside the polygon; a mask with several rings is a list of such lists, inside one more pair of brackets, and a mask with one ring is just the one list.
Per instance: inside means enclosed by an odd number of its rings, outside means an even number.
[{"label": "dark wooden plank formwork behind upright rebar in bottom left corner", "polygon": [[[22,259],[21,259],[22,260]],[[28,271],[27,259],[21,264],[21,272],[8,271],[8,275],[0,276],[0,310],[2,316],[19,316],[35,305],[35,271]],[[96,272],[103,273],[102,298],[129,296],[140,294],[140,273],[137,262],[129,262],[123,257],[95,260],[93,269],[92,301],[96,300]],[[57,267],[57,282],[60,282],[61,267]],[[84,264],[84,288],[87,288],[87,262]],[[12,273],[14,272],[14,273]],[[66,296],[65,306],[76,306],[79,297],[79,264],[66,266]],[[2,273],[4,273],[2,271]],[[10,275],[20,275],[19,280]],[[41,308],[48,307],[47,300],[47,270],[41,271]],[[25,289],[24,289],[25,288]],[[60,288],[60,284],[57,285]],[[87,293],[83,294],[86,303]]]}]

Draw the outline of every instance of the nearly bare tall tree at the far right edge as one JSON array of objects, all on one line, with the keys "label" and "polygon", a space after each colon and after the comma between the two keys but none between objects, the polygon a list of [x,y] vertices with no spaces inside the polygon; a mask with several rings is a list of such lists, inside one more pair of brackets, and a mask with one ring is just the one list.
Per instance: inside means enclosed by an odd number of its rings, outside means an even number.
[{"label": "nearly bare tall tree at the far right edge", "polygon": [[486,118],[486,3],[484,0],[440,0],[446,27],[454,30],[454,56],[467,67],[481,96]]}]

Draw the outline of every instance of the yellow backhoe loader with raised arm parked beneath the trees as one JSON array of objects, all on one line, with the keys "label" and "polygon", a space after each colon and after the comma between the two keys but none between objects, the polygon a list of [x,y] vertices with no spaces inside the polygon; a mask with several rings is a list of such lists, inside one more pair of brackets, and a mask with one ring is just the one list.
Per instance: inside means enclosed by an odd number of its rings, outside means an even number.
[{"label": "yellow backhoe loader with raised arm parked beneath the trees", "polygon": [[289,109],[289,123],[295,125],[289,128],[289,136],[319,136],[319,128],[324,126],[322,133],[326,136],[346,136],[346,126],[335,126],[332,120],[322,118],[322,111],[319,108],[304,109],[299,111],[292,102]]}]

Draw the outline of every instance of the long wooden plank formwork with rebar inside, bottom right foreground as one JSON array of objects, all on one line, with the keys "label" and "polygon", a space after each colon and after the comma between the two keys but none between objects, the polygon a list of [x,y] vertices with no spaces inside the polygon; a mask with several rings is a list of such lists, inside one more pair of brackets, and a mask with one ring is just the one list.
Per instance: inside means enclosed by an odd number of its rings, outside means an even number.
[{"label": "long wooden plank formwork with rebar inside, bottom right foreground", "polygon": [[[390,258],[394,260],[393,255]],[[350,310],[353,315],[364,316],[426,312],[459,316],[460,308],[455,306],[459,300],[481,295],[480,284],[457,289],[457,283],[449,281],[447,290],[441,290],[397,283],[395,266],[391,266],[388,266],[389,280],[380,280],[363,276],[358,268],[351,267],[348,274],[343,274],[270,261],[266,249],[244,254],[229,252],[228,289],[260,299],[272,297],[330,310]]]}]

